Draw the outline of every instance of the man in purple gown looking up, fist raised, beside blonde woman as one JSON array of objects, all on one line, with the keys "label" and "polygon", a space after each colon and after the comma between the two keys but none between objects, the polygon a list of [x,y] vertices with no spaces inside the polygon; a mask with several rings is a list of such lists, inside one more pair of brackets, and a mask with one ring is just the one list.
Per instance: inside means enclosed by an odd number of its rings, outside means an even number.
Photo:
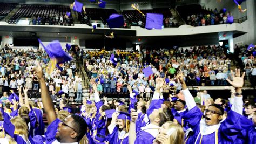
[{"label": "man in purple gown looking up, fist raised, beside blonde woman", "polygon": [[138,112],[132,109],[129,142],[131,143],[152,143],[156,136],[159,134],[159,127],[166,121],[173,121],[173,115],[170,108],[161,108],[163,100],[160,99],[160,88],[163,87],[164,79],[156,79],[156,91],[154,92],[151,104],[147,109],[146,114],[149,117],[150,124],[142,127],[136,133],[136,120]]}]

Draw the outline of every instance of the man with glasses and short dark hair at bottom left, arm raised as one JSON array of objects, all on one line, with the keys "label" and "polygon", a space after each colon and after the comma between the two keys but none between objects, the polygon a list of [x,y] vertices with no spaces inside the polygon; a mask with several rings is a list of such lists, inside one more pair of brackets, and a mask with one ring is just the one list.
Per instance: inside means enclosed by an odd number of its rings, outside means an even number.
[{"label": "man with glasses and short dark hair at bottom left, arm raised", "polygon": [[41,88],[41,98],[49,126],[45,132],[46,143],[78,144],[87,130],[85,120],[78,115],[69,115],[63,121],[57,118],[48,88],[45,85],[41,66],[35,68]]}]

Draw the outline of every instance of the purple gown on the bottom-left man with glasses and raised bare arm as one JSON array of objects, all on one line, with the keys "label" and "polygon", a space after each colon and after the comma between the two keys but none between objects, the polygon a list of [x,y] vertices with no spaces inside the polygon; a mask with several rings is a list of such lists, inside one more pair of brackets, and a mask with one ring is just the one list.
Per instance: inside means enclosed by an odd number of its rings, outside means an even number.
[{"label": "purple gown on the bottom-left man with glasses and raised bare arm", "polygon": [[47,144],[51,144],[53,141],[56,140],[55,135],[58,131],[58,125],[61,122],[60,119],[56,119],[51,122],[51,124],[47,127],[45,132],[45,142]]}]

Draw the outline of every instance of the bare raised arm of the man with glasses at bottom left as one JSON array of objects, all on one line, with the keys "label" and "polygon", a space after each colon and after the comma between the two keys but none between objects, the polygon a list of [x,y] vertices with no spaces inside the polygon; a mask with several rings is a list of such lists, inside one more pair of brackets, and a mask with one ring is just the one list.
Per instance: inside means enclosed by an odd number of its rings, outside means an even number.
[{"label": "bare raised arm of the man with glasses at bottom left", "polygon": [[49,90],[45,84],[42,67],[38,64],[35,70],[36,70],[37,78],[39,80],[39,84],[41,88],[41,98],[42,98],[44,110],[46,113],[46,118],[47,118],[48,124],[51,124],[52,121],[57,119],[55,109],[53,107],[53,102],[49,95]]}]

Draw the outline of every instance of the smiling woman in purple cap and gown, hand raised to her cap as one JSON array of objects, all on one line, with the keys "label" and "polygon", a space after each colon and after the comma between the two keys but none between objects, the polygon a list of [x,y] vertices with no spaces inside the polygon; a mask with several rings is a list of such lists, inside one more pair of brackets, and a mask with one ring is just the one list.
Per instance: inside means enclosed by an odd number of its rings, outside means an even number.
[{"label": "smiling woman in purple cap and gown, hand raised to her cap", "polygon": [[128,144],[129,143],[129,113],[114,112],[112,114],[111,124],[109,125],[109,142],[113,144]]}]

